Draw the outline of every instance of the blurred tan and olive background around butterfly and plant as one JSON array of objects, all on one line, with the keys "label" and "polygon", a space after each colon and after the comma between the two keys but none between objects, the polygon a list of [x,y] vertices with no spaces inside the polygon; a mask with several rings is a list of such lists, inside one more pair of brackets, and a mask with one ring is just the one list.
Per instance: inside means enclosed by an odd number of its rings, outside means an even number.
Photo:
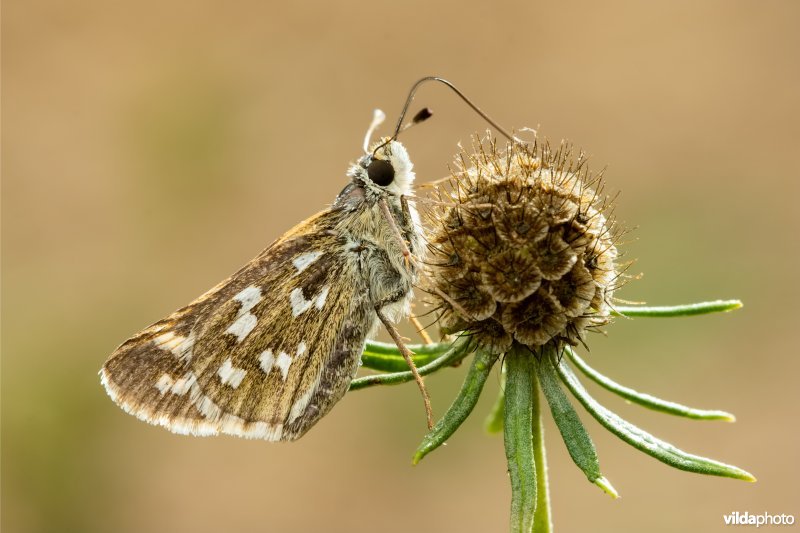
[{"label": "blurred tan and olive background around butterfly and plant", "polygon": [[[429,74],[607,167],[644,273],[620,297],[745,302],[617,320],[584,355],[639,390],[735,413],[670,418],[589,387],[758,483],[672,470],[584,416],[612,501],[548,415],[556,530],[800,517],[796,2],[9,0],[2,15],[4,532],[507,528],[502,438],[482,430],[496,376],[416,467],[414,384],[348,395],[287,445],[172,435],[125,415],[97,377],[119,343],[327,206],[373,108],[393,123]],[[435,112],[402,139],[425,182],[486,125],[443,87],[415,104]],[[464,371],[427,380],[437,414]]]}]

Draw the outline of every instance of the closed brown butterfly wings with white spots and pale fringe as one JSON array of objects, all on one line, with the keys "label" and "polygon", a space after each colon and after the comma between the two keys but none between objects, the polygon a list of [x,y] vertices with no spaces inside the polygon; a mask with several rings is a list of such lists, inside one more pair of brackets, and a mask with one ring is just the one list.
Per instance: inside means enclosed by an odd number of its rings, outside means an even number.
[{"label": "closed brown butterfly wings with white spots and pale fringe", "polygon": [[122,344],[101,379],[170,431],[293,440],[347,391],[376,317],[332,208]]}]

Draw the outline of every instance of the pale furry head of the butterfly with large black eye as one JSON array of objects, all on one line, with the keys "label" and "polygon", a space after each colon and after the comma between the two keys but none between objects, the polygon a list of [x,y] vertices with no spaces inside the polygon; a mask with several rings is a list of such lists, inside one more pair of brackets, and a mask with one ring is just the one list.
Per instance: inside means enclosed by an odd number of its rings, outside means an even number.
[{"label": "pale furry head of the butterfly with large black eye", "polygon": [[414,182],[414,165],[405,146],[398,141],[382,139],[350,168],[348,175],[375,193],[408,195]]}]

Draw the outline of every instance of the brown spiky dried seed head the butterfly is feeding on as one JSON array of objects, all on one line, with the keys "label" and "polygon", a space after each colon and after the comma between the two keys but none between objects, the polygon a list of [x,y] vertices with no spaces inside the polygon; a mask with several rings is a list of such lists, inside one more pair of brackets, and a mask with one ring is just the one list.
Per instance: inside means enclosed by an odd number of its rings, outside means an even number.
[{"label": "brown spiky dried seed head the butterfly is feeding on", "polygon": [[491,137],[462,151],[431,214],[430,292],[446,331],[494,353],[575,345],[608,322],[617,249],[602,183],[568,145]]}]

